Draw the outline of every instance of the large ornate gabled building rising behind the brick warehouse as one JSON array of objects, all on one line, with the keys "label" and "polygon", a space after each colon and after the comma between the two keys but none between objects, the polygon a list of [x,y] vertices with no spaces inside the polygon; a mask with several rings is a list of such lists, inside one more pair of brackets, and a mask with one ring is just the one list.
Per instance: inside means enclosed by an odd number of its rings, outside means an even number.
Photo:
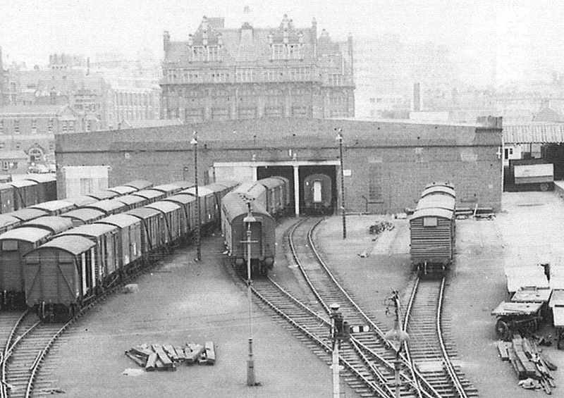
[{"label": "large ornate gabled building rising behind the brick warehouse", "polygon": [[[344,47],[344,49],[343,49]],[[188,40],[164,32],[161,116],[186,123],[354,116],[353,38],[295,27],[226,28],[204,17]]]}]

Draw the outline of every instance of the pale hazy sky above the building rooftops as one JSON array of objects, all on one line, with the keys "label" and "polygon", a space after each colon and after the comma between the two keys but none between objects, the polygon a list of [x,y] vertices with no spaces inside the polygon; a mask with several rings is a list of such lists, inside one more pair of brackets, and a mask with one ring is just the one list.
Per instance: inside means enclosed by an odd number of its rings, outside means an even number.
[{"label": "pale hazy sky above the building rooftops", "polygon": [[[45,64],[49,54],[94,56],[146,47],[161,57],[162,32],[185,39],[202,15],[223,16],[238,27],[249,5],[255,25],[275,26],[282,15],[299,26],[312,17],[336,39],[392,32],[405,41],[432,40],[457,60],[479,61],[500,40],[529,61],[563,68],[564,1],[560,0],[0,0],[4,62]],[[497,43],[497,44],[496,44]],[[505,47],[504,47],[505,46]],[[499,51],[499,49],[498,49]],[[503,51],[501,51],[503,54]],[[513,51],[515,52],[515,51]],[[514,54],[515,55],[515,54]],[[9,58],[8,58],[9,57]],[[515,57],[514,57],[515,58]],[[512,62],[515,62],[513,59]]]}]

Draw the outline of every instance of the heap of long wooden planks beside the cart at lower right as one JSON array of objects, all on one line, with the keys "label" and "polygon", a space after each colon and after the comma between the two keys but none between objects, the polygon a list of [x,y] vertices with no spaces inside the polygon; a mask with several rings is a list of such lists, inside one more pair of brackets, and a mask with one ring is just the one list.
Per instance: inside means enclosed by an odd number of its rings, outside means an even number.
[{"label": "heap of long wooden planks beside the cart at lower right", "polygon": [[[537,343],[520,335],[513,335],[510,342],[498,341],[498,352],[502,361],[508,361],[522,387],[542,389],[546,394],[551,394],[556,387],[551,371],[557,367],[548,359],[548,356],[537,348]],[[525,381],[526,380],[526,381]]]}]

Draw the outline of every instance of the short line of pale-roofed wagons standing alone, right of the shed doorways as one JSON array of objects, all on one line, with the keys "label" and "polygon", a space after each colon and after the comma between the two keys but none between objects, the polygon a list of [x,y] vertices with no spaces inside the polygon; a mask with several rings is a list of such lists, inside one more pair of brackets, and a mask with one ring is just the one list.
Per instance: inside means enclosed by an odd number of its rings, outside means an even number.
[{"label": "short line of pale-roofed wagons standing alone, right of the shed doorways", "polygon": [[423,189],[410,216],[411,263],[419,275],[443,275],[454,257],[456,193],[449,182]]}]

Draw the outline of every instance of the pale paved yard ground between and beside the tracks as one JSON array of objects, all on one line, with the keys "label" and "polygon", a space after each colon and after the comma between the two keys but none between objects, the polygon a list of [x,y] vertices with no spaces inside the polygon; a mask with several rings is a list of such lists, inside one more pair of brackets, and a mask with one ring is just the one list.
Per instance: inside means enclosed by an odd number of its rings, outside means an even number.
[{"label": "pale paved yard ground between and beside the tracks", "polygon": [[[374,242],[368,228],[386,216],[348,216],[346,240],[341,218],[331,217],[316,232],[324,258],[339,279],[377,323],[393,325],[384,304],[393,290],[402,292],[412,278],[407,220]],[[278,256],[273,277],[307,297],[295,281],[295,268],[283,254],[278,228]],[[460,366],[481,397],[531,397],[517,387],[515,373],[496,351],[495,318],[490,315],[507,299],[504,266],[537,263],[548,254],[553,263],[564,259],[564,201],[553,192],[503,194],[503,212],[494,220],[458,220],[455,265],[446,292],[446,317]],[[331,373],[281,325],[255,307],[254,339],[257,380],[245,386],[247,358],[247,299],[226,273],[221,238],[204,240],[204,261],[195,263],[194,247],[178,249],[152,274],[137,282],[140,291],[117,294],[80,321],[51,360],[54,385],[66,397],[125,397],[159,395],[186,397],[328,397]],[[364,254],[362,257],[360,254]],[[545,327],[544,335],[554,335]],[[180,367],[178,371],[121,375],[135,365],[123,355],[142,342],[214,340],[216,366]],[[560,366],[553,372],[558,396],[564,388],[564,351],[546,352]],[[563,390],[564,391],[564,390]],[[346,397],[356,394],[346,388]]]}]

